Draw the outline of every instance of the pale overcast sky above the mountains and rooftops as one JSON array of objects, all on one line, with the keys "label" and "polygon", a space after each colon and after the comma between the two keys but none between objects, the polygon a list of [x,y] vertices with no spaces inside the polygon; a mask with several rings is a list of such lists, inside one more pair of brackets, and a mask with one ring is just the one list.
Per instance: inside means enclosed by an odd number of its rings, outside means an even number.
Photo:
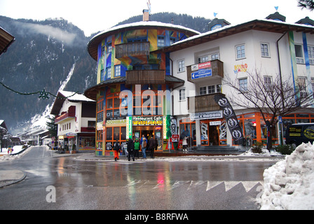
[{"label": "pale overcast sky above the mountains and rooftops", "polygon": [[33,20],[64,18],[90,36],[132,16],[142,15],[148,1],[151,14],[181,13],[213,19],[214,13],[218,13],[217,18],[231,24],[264,19],[275,13],[275,6],[285,15],[286,22],[294,23],[306,16],[314,20],[314,11],[301,10],[297,0],[0,0],[0,15]]}]

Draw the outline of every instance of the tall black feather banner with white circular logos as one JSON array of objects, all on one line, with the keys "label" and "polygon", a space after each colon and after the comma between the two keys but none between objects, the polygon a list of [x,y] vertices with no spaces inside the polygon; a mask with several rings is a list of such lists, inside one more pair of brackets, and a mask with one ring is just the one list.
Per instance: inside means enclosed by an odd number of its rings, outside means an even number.
[{"label": "tall black feather banner with white circular logos", "polygon": [[233,143],[235,145],[243,144],[243,132],[228,99],[221,94],[217,94],[214,96],[214,101],[221,106],[222,113],[232,135]]}]

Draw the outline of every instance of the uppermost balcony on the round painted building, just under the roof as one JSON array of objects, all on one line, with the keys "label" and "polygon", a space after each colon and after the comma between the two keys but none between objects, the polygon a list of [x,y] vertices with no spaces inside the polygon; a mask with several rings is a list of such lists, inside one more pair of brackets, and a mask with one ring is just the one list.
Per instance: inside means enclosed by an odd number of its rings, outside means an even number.
[{"label": "uppermost balcony on the round painted building, just under the roof", "polygon": [[116,59],[149,56],[149,42],[121,43],[115,45]]}]

